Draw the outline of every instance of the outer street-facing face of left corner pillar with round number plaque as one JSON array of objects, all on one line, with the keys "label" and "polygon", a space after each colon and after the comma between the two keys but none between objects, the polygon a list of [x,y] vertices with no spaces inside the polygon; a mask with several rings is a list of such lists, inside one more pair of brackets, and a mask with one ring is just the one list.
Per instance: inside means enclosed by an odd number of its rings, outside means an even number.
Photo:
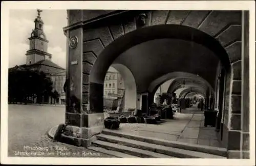
[{"label": "outer street-facing face of left corner pillar with round number plaque", "polygon": [[[68,24],[82,20],[81,10],[68,10]],[[88,145],[88,116],[82,107],[82,27],[67,30],[67,92],[66,92],[66,132],[61,142],[75,146]],[[60,99],[59,99],[60,101]]]}]

